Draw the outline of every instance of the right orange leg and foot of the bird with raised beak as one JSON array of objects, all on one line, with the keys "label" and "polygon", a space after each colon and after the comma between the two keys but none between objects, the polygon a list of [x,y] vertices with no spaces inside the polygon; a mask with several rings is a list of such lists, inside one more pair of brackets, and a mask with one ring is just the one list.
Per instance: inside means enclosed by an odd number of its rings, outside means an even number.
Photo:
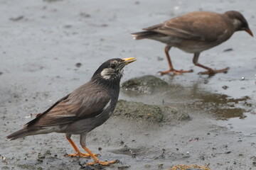
[{"label": "right orange leg and foot of the bird with raised beak", "polygon": [[90,155],[90,157],[94,160],[94,162],[89,162],[86,164],[86,166],[89,165],[94,165],[94,164],[100,164],[103,166],[110,166],[110,164],[114,164],[117,162],[117,160],[111,161],[111,162],[103,162],[98,159],[95,154],[92,154],[92,152],[85,146],[85,138],[86,135],[80,135],[80,145],[82,146],[83,149]]}]

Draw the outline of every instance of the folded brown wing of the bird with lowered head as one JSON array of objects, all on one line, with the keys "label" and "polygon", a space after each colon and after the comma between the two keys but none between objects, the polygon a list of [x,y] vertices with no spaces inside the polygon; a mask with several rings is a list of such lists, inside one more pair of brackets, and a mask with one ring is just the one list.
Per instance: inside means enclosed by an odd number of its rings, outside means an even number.
[{"label": "folded brown wing of the bird with lowered head", "polygon": [[156,26],[144,28],[144,30],[186,40],[211,42],[225,33],[226,24],[218,13],[198,11],[172,18]]}]

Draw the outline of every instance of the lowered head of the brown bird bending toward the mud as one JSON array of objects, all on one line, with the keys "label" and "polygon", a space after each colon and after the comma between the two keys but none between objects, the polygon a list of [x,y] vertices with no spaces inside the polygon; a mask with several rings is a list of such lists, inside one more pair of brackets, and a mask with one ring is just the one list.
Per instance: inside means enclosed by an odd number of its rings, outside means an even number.
[{"label": "lowered head of the brown bird bending toward the mud", "polygon": [[252,31],[250,30],[245,17],[242,16],[242,13],[238,11],[227,11],[225,12],[225,15],[227,15],[230,19],[233,20],[235,31],[245,30],[247,33],[249,33],[253,37]]}]

